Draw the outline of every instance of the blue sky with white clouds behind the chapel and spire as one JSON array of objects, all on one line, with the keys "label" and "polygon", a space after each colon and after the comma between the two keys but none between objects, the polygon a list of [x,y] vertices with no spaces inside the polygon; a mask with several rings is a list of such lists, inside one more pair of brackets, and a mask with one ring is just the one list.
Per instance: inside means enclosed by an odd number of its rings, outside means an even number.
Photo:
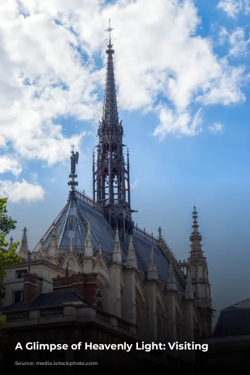
[{"label": "blue sky with white clouds behind the chapel and spire", "polygon": [[65,204],[72,143],[91,195],[110,17],[134,220],[160,225],[182,260],[195,201],[213,307],[249,297],[249,13],[249,0],[3,2],[0,194],[14,239],[26,226],[32,249]]}]

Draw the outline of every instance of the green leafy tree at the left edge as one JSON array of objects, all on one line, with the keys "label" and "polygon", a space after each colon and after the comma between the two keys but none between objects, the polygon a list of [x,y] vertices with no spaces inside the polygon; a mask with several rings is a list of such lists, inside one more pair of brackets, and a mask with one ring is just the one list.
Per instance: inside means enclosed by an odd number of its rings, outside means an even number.
[{"label": "green leafy tree at the left edge", "polygon": [[[7,215],[7,198],[0,198],[0,296],[4,292],[3,278],[5,277],[5,267],[21,262],[19,254],[16,253],[18,241],[9,243],[6,241],[6,235],[10,230],[15,229],[16,221]],[[8,251],[4,251],[8,249]],[[0,329],[5,324],[5,315],[0,314]]]}]

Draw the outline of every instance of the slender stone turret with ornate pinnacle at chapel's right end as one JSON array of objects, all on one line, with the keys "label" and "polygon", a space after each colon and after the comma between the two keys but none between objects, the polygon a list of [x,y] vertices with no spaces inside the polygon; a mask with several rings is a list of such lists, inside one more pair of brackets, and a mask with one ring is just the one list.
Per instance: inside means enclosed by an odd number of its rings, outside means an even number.
[{"label": "slender stone turret with ornate pinnacle at chapel's right end", "polygon": [[189,258],[187,259],[187,269],[193,286],[193,297],[201,321],[201,334],[202,336],[209,336],[211,334],[211,317],[213,310],[211,308],[208,267],[206,258],[203,256],[201,244],[202,236],[198,231],[198,216],[195,206],[193,207],[192,217],[193,230],[189,238],[191,241],[191,249]]}]

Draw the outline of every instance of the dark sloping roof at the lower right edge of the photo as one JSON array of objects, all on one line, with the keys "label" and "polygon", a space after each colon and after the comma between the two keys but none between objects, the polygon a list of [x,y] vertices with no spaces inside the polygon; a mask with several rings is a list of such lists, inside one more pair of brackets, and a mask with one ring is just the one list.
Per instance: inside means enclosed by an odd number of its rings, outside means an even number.
[{"label": "dark sloping roof at the lower right edge of the photo", "polygon": [[213,337],[250,334],[250,298],[220,311]]}]

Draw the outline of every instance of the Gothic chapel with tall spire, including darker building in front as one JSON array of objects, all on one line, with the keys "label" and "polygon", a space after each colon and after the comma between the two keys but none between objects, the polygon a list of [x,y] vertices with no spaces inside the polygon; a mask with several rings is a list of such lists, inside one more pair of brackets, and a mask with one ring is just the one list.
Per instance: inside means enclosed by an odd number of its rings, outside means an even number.
[{"label": "Gothic chapel with tall spire, including darker building in front", "polygon": [[[93,196],[76,189],[79,154],[72,149],[65,206],[31,253],[24,230],[20,254],[26,260],[7,269],[7,328],[18,335],[21,327],[33,326],[43,337],[39,326],[91,323],[99,332],[108,330],[113,340],[197,341],[211,334],[212,316],[197,212],[194,207],[190,255],[183,262],[176,260],[160,228],[155,237],[132,220],[129,154],[123,152],[110,30]],[[78,328],[70,329],[77,335]],[[95,339],[104,342],[105,334],[96,333]],[[168,353],[168,363],[177,354]]]}]

